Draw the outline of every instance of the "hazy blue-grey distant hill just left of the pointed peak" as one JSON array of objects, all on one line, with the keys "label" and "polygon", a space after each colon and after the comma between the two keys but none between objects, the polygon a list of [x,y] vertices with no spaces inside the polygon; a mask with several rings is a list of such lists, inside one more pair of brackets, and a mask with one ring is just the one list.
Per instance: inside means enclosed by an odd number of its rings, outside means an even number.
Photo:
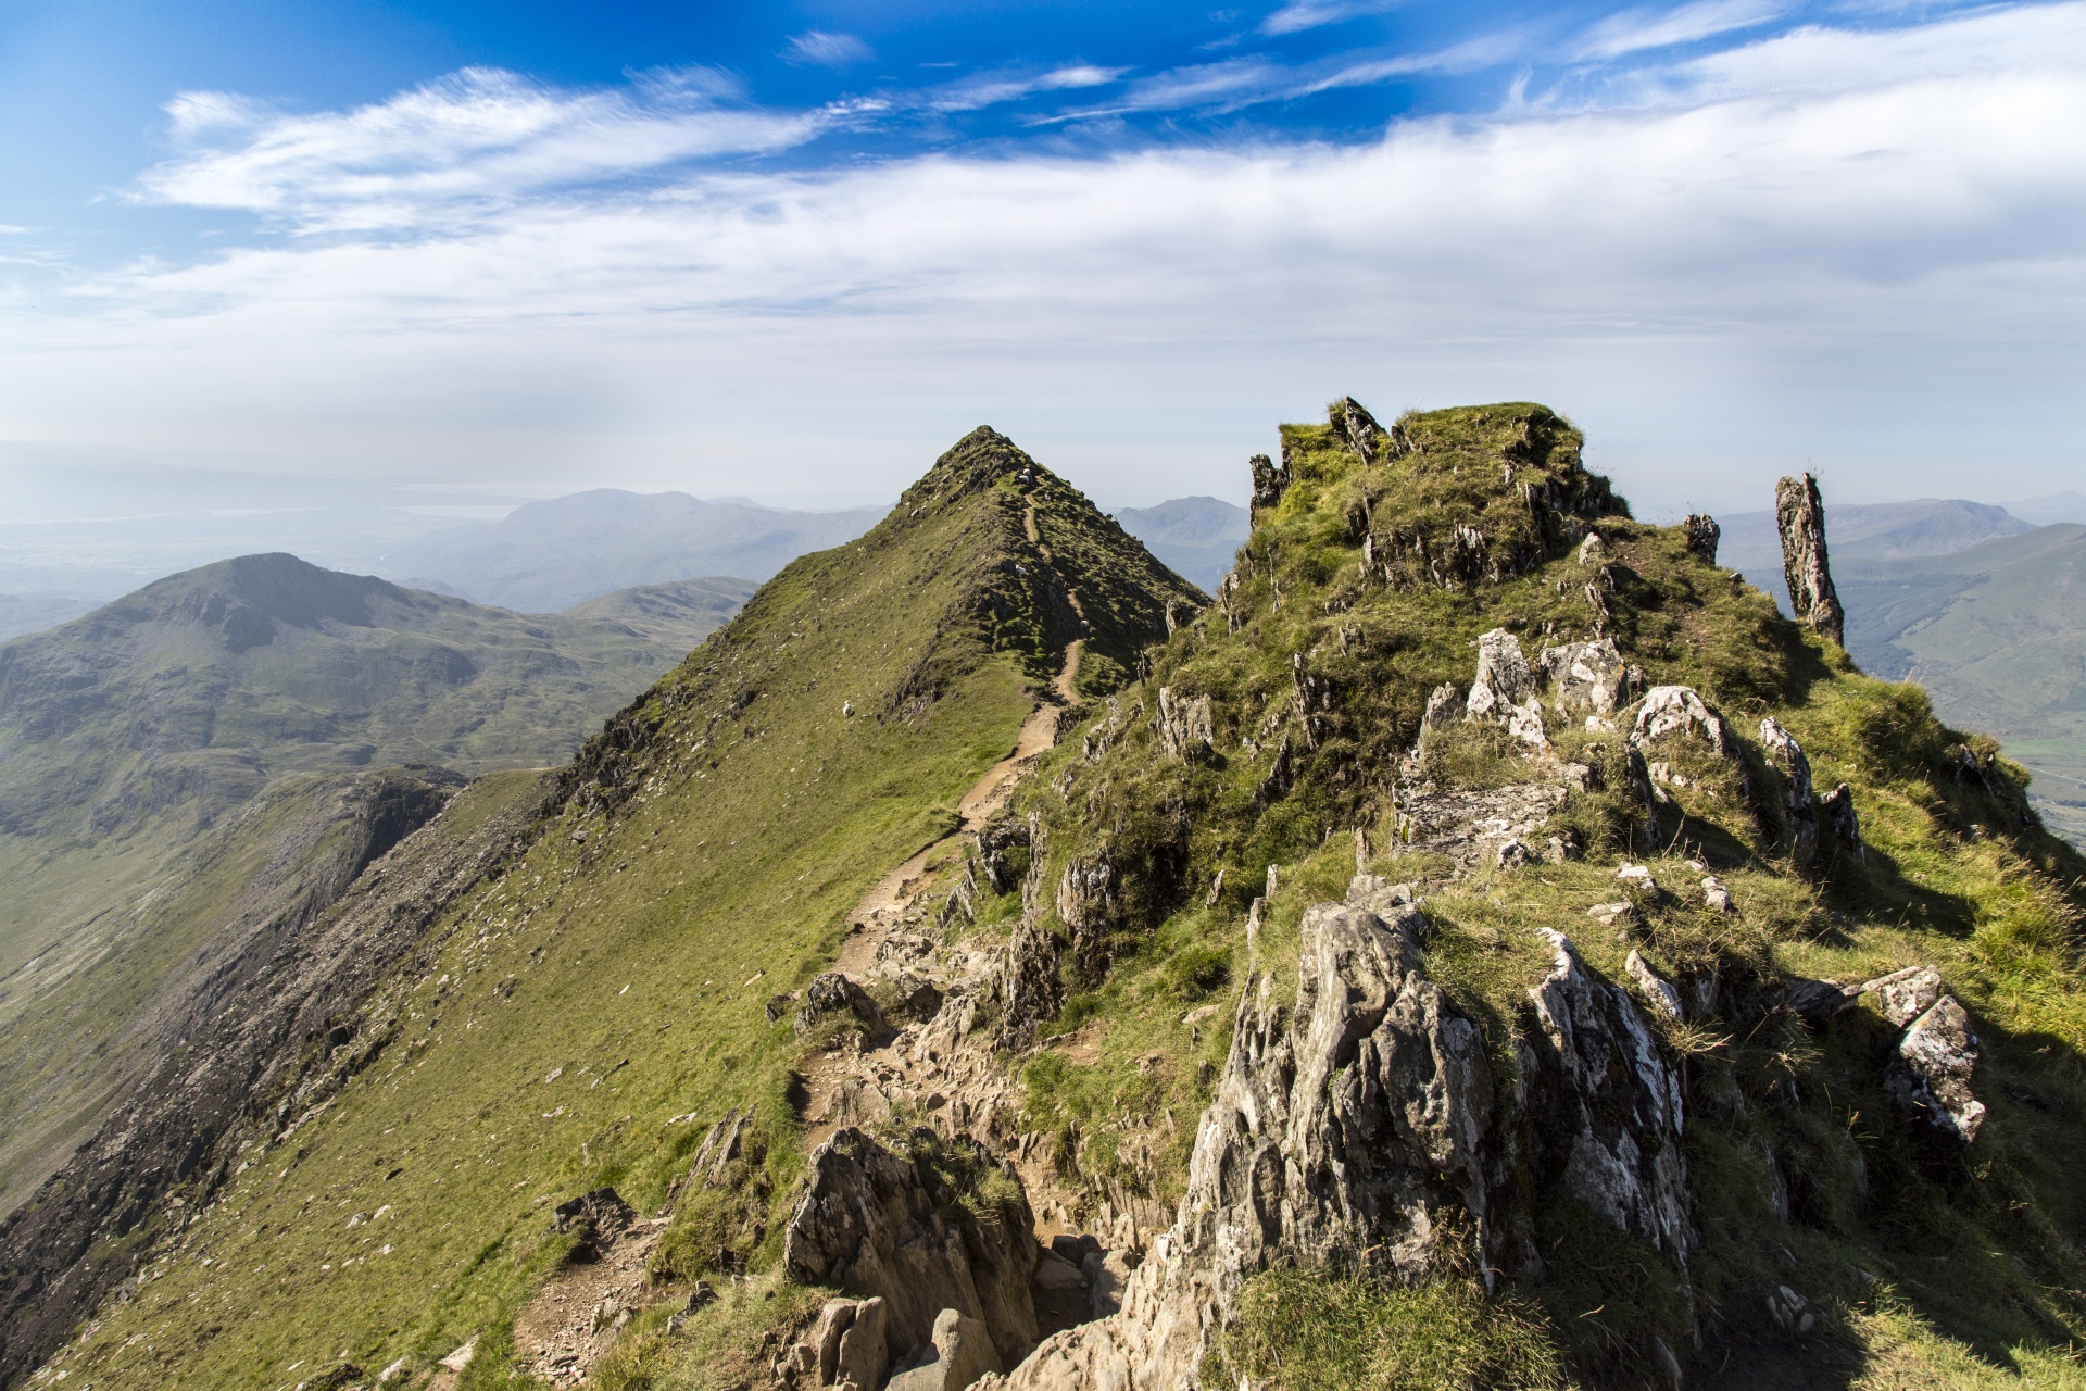
[{"label": "hazy blue-grey distant hill just left of the pointed peak", "polygon": [[634,584],[768,580],[807,551],[862,536],[884,511],[778,511],[743,498],[595,488],[398,542],[378,569],[403,584],[551,613]]}]

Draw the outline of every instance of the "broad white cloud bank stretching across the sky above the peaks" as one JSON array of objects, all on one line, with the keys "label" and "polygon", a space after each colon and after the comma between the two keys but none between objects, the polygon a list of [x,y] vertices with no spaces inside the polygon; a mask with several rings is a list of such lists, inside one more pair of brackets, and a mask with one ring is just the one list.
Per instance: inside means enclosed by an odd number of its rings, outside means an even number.
[{"label": "broad white cloud bank stretching across the sky above the peaks", "polygon": [[[2051,35],[2082,10],[1990,15],[1975,44],[1834,38],[1869,77],[1852,90],[1771,90],[1813,67],[1763,44],[1690,69],[1740,94],[1681,106],[1402,123],[1364,148],[682,171],[509,192],[434,236],[140,265],[65,313],[0,300],[0,438],[713,459],[684,482],[730,492],[751,459],[895,486],[991,419],[1120,486],[1179,450],[1235,467],[1268,421],[1356,390],[1548,398],[1669,465],[1867,450],[1877,492],[1948,490],[1913,482],[1921,455],[2076,459],[2051,402],[2086,369],[2086,65]],[[346,198],[336,156],[254,158],[284,206]]]}]

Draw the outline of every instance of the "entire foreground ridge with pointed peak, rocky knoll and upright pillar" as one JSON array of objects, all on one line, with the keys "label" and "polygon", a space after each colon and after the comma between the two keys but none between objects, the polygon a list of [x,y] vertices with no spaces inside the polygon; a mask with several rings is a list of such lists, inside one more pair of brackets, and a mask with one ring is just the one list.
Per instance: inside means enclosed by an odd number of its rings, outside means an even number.
[{"label": "entire foreground ridge with pointed peak, rocky knoll and upright pillar", "polygon": [[417,799],[0,1226],[6,1385],[2073,1385],[2086,863],[1527,402],[1202,592],[978,430]]}]

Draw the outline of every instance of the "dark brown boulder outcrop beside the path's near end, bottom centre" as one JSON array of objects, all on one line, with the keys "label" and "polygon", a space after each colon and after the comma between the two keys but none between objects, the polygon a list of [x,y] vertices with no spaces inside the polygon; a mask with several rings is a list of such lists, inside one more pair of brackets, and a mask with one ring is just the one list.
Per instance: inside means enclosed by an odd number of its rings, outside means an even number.
[{"label": "dark brown boulder outcrop beside the path's near end, bottom centre", "polygon": [[1012,1366],[1037,1341],[1033,1233],[1020,1176],[976,1141],[916,1130],[899,1155],[849,1128],[811,1155],[782,1264],[799,1285],[880,1297],[893,1360],[930,1343],[937,1316],[955,1310]]}]

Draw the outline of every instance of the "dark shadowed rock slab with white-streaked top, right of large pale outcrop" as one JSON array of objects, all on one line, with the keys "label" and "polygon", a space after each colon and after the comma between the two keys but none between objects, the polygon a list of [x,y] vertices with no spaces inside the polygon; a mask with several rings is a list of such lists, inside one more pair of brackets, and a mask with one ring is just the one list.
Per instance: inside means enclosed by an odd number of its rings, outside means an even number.
[{"label": "dark shadowed rock slab with white-streaked top, right of large pale outcrop", "polygon": [[1539,1028],[1521,1043],[1537,1168],[1621,1230],[1685,1260],[1694,1224],[1679,1070],[1621,989],[1562,932],[1544,936],[1556,957],[1529,989]]}]

